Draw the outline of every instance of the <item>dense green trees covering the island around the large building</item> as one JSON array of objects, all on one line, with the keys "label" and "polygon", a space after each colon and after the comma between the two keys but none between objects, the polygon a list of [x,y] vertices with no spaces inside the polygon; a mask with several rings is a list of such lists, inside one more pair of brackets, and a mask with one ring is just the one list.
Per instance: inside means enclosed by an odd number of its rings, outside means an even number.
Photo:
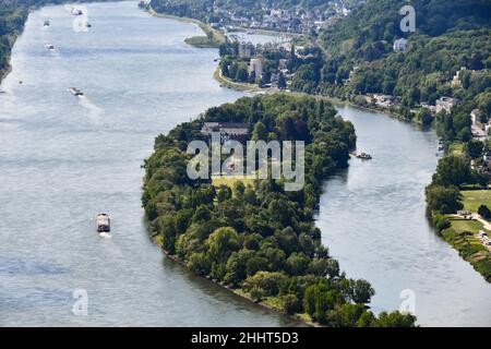
[{"label": "dense green trees covering the island around the large building", "polygon": [[[189,142],[204,122],[244,122],[249,139],[303,140],[306,185],[280,180],[216,185],[187,176]],[[330,326],[414,326],[409,314],[367,309],[374,290],[340,273],[314,226],[321,182],[348,165],[356,136],[331,104],[285,94],[241,98],[159,135],[145,161],[143,206],[164,250],[205,276],[289,314]]]}]

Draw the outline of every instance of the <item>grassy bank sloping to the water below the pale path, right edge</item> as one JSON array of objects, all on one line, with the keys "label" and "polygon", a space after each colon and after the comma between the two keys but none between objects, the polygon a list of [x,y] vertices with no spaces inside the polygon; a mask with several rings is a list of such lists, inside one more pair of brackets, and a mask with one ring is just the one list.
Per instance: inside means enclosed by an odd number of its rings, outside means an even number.
[{"label": "grassy bank sloping to the water below the pale path, right edge", "polygon": [[451,243],[488,282],[491,282],[491,253],[476,237],[479,230],[487,231],[489,236],[491,231],[483,229],[482,225],[476,220],[448,218],[451,227],[441,232],[443,239]]}]

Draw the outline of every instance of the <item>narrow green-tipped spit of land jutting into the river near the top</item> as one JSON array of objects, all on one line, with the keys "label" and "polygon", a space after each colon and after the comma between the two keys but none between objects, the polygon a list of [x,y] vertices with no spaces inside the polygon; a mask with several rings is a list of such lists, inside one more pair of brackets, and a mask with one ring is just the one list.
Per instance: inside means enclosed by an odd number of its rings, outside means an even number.
[{"label": "narrow green-tipped spit of land jutting into the river near the top", "polygon": [[190,19],[190,17],[180,17],[172,14],[165,14],[156,12],[154,9],[152,9],[149,5],[147,7],[146,11],[156,17],[163,17],[163,19],[170,19],[170,20],[177,20],[177,21],[183,21],[188,23],[193,23],[197,25],[206,36],[192,36],[189,38],[185,38],[184,41],[188,45],[197,47],[197,48],[218,48],[221,44],[225,43],[225,35],[220,31],[217,31],[213,28],[209,24],[206,24],[202,21]]}]

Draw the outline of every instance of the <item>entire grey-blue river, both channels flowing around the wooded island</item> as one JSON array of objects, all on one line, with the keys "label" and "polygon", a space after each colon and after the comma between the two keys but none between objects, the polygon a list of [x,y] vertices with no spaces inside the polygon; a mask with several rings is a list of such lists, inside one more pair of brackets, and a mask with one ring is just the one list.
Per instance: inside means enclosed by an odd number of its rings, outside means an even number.
[{"label": "entire grey-blue river, both channels flowing around the wooded island", "polygon": [[[217,51],[187,46],[194,25],[136,2],[86,9],[89,32],[73,29],[70,7],[33,12],[0,87],[0,326],[297,325],[167,261],[143,224],[154,137],[244,95],[213,80]],[[326,183],[319,225],[342,268],[373,284],[375,311],[410,289],[422,325],[491,325],[490,285],[424,218],[434,133],[339,110],[374,156]],[[111,240],[94,232],[99,212],[113,216]],[[88,314],[75,315],[85,293]]]}]

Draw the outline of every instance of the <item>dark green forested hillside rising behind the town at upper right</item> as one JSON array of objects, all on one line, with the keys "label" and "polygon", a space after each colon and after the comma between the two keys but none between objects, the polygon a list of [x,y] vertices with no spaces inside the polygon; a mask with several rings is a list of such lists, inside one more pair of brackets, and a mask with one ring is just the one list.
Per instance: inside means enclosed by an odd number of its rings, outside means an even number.
[{"label": "dark green forested hillside rising behind the town at upper right", "polygon": [[[452,94],[450,82],[463,67],[488,69],[489,79],[491,1],[411,1],[416,33],[400,32],[399,10],[405,4],[369,0],[322,33],[327,59],[320,74],[321,91],[343,87],[345,94],[397,95],[410,107]],[[394,52],[393,43],[402,37],[409,39],[408,50]],[[354,79],[346,83],[354,70]]]}]

